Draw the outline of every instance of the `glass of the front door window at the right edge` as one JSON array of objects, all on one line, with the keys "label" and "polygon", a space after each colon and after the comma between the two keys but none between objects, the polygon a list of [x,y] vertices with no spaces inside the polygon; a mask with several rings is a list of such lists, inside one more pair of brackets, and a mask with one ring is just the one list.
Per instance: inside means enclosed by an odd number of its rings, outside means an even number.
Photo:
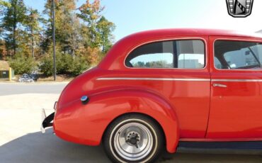
[{"label": "glass of the front door window at the right edge", "polygon": [[219,40],[215,42],[217,69],[261,69],[261,43]]}]

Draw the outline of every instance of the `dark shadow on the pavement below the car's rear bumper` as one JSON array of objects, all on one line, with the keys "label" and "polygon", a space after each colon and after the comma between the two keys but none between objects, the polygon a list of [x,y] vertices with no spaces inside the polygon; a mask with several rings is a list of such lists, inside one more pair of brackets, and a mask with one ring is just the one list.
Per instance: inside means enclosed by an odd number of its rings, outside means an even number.
[{"label": "dark shadow on the pavement below the car's rear bumper", "polygon": [[48,129],[45,134],[29,133],[0,147],[0,162],[110,162],[103,147],[65,142]]}]

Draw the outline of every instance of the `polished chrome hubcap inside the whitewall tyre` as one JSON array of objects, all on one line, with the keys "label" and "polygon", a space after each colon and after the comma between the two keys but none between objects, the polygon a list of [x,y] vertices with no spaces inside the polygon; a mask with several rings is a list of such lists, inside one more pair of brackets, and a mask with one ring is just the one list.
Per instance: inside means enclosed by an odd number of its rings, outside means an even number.
[{"label": "polished chrome hubcap inside the whitewall tyre", "polygon": [[153,148],[153,136],[149,128],[141,123],[127,123],[115,133],[115,151],[129,161],[147,157]]}]

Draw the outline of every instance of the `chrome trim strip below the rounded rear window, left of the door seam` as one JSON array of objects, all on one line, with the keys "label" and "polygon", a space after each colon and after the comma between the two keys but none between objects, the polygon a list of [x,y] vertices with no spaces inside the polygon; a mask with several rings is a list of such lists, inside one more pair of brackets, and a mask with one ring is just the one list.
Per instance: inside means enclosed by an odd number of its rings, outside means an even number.
[{"label": "chrome trim strip below the rounded rear window, left of the door seam", "polygon": [[101,77],[96,80],[210,81],[210,79],[149,78],[149,77]]}]

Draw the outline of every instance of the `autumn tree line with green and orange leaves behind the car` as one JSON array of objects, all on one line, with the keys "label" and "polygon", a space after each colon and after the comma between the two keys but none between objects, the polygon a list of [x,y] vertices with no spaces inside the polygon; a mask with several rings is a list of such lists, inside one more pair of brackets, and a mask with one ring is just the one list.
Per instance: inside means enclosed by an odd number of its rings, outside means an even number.
[{"label": "autumn tree line with green and orange leaves behind the car", "polygon": [[[0,0],[0,59],[8,60],[17,74],[33,67],[52,74],[52,0],[43,3],[40,12],[23,0]],[[115,25],[103,16],[104,9],[100,0],[86,0],[79,8],[76,0],[55,0],[58,74],[80,74],[113,45]],[[32,68],[23,71],[26,65]]]}]

